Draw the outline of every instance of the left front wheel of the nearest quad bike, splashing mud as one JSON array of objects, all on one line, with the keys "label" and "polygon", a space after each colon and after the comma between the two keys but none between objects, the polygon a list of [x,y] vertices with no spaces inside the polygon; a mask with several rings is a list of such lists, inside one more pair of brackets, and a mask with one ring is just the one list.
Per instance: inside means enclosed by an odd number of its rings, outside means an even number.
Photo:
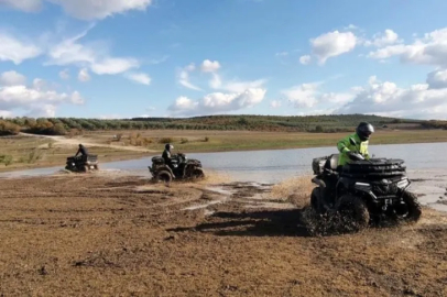
[{"label": "left front wheel of the nearest quad bike, splashing mud", "polygon": [[353,223],[353,228],[361,230],[367,228],[370,221],[370,213],[363,199],[352,195],[344,195],[337,204],[337,211],[347,223]]}]

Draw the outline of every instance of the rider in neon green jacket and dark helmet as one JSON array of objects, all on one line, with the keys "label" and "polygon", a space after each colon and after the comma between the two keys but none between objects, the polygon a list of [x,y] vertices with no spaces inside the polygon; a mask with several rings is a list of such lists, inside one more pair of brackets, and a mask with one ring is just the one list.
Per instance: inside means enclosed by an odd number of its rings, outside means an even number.
[{"label": "rider in neon green jacket and dark helmet", "polygon": [[[340,140],[337,144],[340,157],[338,158],[338,165],[344,166],[348,161],[358,161],[359,157],[356,152],[361,154],[366,160],[370,158],[368,153],[368,142],[371,134],[374,133],[372,124],[361,122],[356,130],[356,133]],[[353,139],[356,144],[352,144],[350,139]]]}]

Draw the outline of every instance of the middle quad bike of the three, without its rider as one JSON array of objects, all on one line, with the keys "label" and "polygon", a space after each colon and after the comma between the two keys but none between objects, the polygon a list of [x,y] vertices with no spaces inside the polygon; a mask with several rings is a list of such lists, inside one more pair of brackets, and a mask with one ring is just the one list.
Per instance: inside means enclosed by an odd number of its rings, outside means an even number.
[{"label": "middle quad bike of the three, without its rider", "polygon": [[149,172],[156,182],[171,183],[173,179],[196,179],[204,178],[205,174],[201,163],[198,160],[187,158],[185,154],[178,153],[171,157],[172,167],[165,164],[163,157],[152,158],[152,166]]}]

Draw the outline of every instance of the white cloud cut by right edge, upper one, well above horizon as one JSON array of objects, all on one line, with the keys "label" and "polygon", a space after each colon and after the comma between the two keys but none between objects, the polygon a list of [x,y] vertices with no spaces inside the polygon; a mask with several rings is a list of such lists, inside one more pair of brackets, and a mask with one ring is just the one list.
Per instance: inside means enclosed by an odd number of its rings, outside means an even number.
[{"label": "white cloud cut by right edge, upper one, well above horizon", "polygon": [[369,53],[375,59],[399,56],[403,63],[447,67],[447,28],[426,33],[412,44],[389,45]]}]

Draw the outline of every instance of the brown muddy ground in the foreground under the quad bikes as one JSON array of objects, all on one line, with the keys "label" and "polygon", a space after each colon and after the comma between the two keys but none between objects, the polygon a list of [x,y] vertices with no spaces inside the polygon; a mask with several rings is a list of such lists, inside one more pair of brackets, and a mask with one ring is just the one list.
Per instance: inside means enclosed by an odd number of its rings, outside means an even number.
[{"label": "brown muddy ground in the foreground under the quad bikes", "polygon": [[315,237],[299,180],[0,183],[0,296],[447,296],[447,217],[427,208]]}]

